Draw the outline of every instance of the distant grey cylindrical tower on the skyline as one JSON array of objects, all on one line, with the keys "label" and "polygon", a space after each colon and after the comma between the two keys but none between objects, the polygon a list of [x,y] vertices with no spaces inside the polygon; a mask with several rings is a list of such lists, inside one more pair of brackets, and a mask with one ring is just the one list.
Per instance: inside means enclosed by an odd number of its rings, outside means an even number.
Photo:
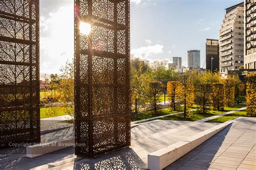
[{"label": "distant grey cylindrical tower on the skyline", "polygon": [[187,67],[200,68],[200,50],[193,49],[187,51]]}]

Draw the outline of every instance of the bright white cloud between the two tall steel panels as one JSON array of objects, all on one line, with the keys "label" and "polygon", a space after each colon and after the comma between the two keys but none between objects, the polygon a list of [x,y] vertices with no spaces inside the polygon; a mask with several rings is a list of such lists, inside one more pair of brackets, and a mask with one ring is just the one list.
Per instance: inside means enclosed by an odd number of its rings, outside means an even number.
[{"label": "bright white cloud between the two tall steel panels", "polygon": [[[73,58],[73,6],[62,6],[57,12],[40,17],[41,72],[50,74]],[[58,72],[57,72],[58,73]]]}]

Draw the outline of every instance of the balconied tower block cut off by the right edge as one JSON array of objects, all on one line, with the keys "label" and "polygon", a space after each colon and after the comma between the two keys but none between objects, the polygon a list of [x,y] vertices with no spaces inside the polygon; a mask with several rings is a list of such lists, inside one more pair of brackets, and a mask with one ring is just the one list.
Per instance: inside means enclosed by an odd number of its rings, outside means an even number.
[{"label": "balconied tower block cut off by the right edge", "polygon": [[256,69],[256,1],[245,0],[245,65]]}]

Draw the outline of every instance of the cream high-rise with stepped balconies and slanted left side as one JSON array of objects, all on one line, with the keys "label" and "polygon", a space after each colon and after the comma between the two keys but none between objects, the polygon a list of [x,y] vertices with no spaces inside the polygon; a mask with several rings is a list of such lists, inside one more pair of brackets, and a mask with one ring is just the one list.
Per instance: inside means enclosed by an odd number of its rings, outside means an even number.
[{"label": "cream high-rise with stepped balconies and slanted left side", "polygon": [[226,9],[220,29],[220,73],[237,70],[244,65],[244,2]]}]

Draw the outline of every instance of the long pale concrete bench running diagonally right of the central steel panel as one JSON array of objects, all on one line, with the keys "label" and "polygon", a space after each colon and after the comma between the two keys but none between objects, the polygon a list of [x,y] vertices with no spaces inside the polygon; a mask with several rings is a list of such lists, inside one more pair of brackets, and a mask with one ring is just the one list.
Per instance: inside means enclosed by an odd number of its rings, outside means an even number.
[{"label": "long pale concrete bench running diagonally right of the central steel panel", "polygon": [[226,128],[232,122],[225,122],[220,125],[214,126],[211,129],[200,132],[190,138],[179,141],[173,145],[161,148],[160,150],[147,155],[147,165],[149,169],[157,170],[163,169],[179,158],[183,157],[186,153],[190,152],[200,144],[204,143],[207,139],[211,138],[214,134]]}]

